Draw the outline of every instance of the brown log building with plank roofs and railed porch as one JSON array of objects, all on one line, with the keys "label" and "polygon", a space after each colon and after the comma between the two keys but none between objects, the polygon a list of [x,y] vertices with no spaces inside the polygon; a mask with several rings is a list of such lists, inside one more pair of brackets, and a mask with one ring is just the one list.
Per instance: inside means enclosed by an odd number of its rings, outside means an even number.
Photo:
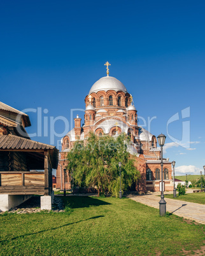
[{"label": "brown log building with plank roofs and railed porch", "polygon": [[[52,169],[57,169],[58,150],[55,146],[32,141],[25,131],[25,127],[30,125],[28,115],[0,102],[0,210],[2,211],[24,201],[28,195],[52,196]],[[16,203],[11,196],[18,198]],[[17,196],[22,196],[22,200]]]}]

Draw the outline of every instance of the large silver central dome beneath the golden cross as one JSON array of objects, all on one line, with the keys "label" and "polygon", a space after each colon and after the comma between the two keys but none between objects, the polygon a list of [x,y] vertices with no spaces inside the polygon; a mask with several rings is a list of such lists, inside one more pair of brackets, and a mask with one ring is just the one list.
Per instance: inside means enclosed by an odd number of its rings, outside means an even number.
[{"label": "large silver central dome beneath the golden cross", "polygon": [[125,85],[113,76],[104,76],[99,79],[94,83],[94,85],[92,85],[89,94],[92,94],[92,92],[99,92],[100,90],[104,90],[106,92],[108,90],[115,90],[116,92],[118,90],[122,90],[125,93],[127,92]]}]

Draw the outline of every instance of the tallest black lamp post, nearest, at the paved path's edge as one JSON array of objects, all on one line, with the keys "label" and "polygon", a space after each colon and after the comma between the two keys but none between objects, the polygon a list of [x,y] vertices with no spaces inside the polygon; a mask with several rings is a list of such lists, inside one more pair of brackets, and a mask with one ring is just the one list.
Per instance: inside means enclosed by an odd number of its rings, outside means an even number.
[{"label": "tallest black lamp post, nearest, at the paved path's edge", "polygon": [[166,136],[160,134],[158,137],[158,142],[161,147],[161,200],[159,201],[159,214],[160,216],[166,215],[166,201],[164,200],[164,184],[163,184],[163,146],[165,143]]}]

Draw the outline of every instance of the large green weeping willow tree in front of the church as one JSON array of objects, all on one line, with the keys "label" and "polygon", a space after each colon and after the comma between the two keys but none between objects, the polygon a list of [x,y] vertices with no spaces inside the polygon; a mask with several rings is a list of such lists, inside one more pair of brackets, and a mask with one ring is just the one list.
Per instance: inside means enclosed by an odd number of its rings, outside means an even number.
[{"label": "large green weeping willow tree in front of the church", "polygon": [[67,154],[67,169],[73,171],[74,185],[95,187],[98,196],[109,192],[117,197],[120,189],[118,162],[122,162],[122,192],[131,187],[140,174],[134,166],[134,157],[127,151],[129,143],[125,134],[114,138],[109,135],[98,137],[92,132],[85,143],[76,141]]}]

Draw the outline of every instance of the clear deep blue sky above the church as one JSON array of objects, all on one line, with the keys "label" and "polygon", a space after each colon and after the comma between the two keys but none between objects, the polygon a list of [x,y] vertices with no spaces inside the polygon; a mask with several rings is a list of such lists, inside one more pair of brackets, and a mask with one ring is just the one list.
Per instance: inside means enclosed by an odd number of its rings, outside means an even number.
[{"label": "clear deep blue sky above the church", "polygon": [[[168,127],[165,157],[176,160],[179,174],[198,174],[205,164],[204,8],[204,1],[1,1],[0,101],[27,111],[27,131],[38,133],[32,139],[57,146],[60,136],[52,141],[38,127],[48,118],[50,130],[59,116],[71,127],[71,109],[85,108],[108,60],[110,76],[132,94],[139,117],[157,117],[153,134],[167,135],[168,120],[179,113]],[[41,124],[32,112],[38,108]],[[182,118],[187,108],[190,117]],[[64,129],[62,120],[55,122],[57,134]]]}]

